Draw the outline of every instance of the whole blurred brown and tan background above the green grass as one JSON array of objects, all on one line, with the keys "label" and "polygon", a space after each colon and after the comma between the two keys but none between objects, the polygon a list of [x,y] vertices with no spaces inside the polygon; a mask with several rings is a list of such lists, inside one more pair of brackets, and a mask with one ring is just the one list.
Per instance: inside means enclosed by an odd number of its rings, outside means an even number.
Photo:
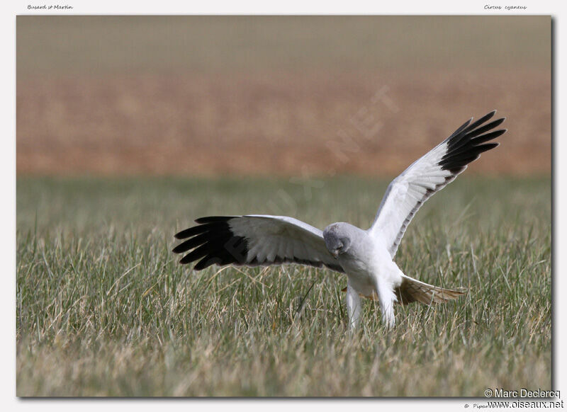
[{"label": "whole blurred brown and tan background above the green grass", "polygon": [[493,109],[471,171],[551,173],[549,16],[19,16],[17,75],[18,174],[389,176]]}]

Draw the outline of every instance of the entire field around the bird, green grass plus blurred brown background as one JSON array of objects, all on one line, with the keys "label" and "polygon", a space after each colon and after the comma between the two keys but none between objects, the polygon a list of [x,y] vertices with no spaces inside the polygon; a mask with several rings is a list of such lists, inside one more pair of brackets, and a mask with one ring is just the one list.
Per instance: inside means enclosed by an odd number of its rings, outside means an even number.
[{"label": "entire field around the bird, green grass plus blurred brown background", "polygon": [[[550,176],[550,27],[18,16],[18,396],[550,389],[551,181],[475,176]],[[349,334],[346,277],[330,270],[193,273],[171,252],[208,214],[368,227],[389,179],[347,176],[399,173],[493,109],[505,149],[427,202],[396,257],[469,292],[398,308],[394,331],[368,302]],[[265,177],[298,175],[342,177]]]}]

